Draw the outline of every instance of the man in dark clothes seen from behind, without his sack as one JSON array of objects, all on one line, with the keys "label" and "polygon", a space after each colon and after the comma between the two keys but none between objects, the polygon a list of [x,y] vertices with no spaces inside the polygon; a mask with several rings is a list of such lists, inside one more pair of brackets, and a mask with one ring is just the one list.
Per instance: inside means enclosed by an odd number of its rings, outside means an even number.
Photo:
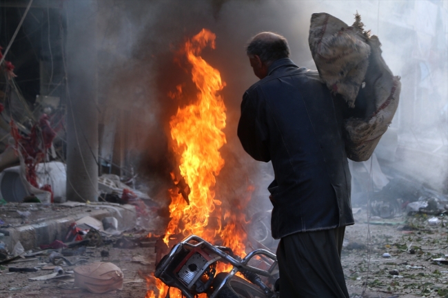
[{"label": "man in dark clothes seen from behind, without his sack", "polygon": [[345,226],[354,224],[342,137],[342,98],[318,73],[296,66],[286,39],[272,32],[247,46],[260,78],[243,96],[238,137],[245,151],[272,160],[272,237],[281,298],[348,298],[340,264]]}]

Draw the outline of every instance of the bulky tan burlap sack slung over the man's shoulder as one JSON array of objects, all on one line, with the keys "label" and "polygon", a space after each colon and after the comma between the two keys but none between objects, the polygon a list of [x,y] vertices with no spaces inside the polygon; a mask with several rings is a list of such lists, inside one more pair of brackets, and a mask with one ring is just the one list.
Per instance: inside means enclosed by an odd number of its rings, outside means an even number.
[{"label": "bulky tan burlap sack slung over the man's shoulder", "polygon": [[[381,57],[380,41],[363,30],[360,16],[347,26],[330,14],[313,14],[309,48],[320,78],[349,107],[355,100],[366,106],[364,118],[345,120],[345,151],[354,161],[368,160],[389,127],[398,107],[400,77]],[[364,88],[359,92],[360,87]]]}]

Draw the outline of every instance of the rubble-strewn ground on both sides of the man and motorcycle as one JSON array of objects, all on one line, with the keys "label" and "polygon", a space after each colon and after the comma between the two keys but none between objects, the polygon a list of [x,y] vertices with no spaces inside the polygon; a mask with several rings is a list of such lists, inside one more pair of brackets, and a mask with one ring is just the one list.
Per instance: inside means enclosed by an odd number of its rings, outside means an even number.
[{"label": "rubble-strewn ground on both sides of the man and motorcycle", "polygon": [[[445,257],[448,249],[448,218],[444,215],[403,215],[392,219],[371,217],[367,224],[367,213],[355,215],[356,224],[348,226],[342,253],[342,264],[350,297],[448,297],[448,261],[433,261]],[[438,217],[438,224],[429,224],[429,218]],[[447,218],[447,220],[445,220]],[[371,253],[368,262],[367,231],[371,233]],[[135,236],[135,235],[134,235]],[[155,242],[154,242],[155,244]],[[101,257],[101,251],[109,251],[110,257]],[[383,257],[389,253],[391,257]],[[133,262],[145,258],[145,264]],[[89,262],[108,261],[123,270],[123,290],[97,295],[70,290],[69,279],[29,281],[51,273],[39,270],[34,273],[10,273],[8,267],[34,267],[48,264],[48,255],[34,260],[0,266],[0,297],[136,297],[144,298],[145,275],[154,270],[154,245],[146,248],[113,248],[111,244],[98,248],[87,248],[81,256],[68,257],[70,262],[88,258]],[[32,258],[29,258],[32,259]],[[65,266],[65,270],[73,267]],[[395,272],[394,272],[395,271]],[[392,273],[392,274],[391,274]],[[367,287],[365,282],[367,281]]]}]

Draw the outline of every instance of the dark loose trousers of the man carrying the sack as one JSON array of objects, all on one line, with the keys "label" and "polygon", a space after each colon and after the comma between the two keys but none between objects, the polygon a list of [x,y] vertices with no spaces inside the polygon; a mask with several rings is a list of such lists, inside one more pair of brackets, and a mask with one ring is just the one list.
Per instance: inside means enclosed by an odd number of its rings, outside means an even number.
[{"label": "dark loose trousers of the man carrying the sack", "polygon": [[348,298],[340,251],[345,226],[294,233],[278,244],[281,298]]}]

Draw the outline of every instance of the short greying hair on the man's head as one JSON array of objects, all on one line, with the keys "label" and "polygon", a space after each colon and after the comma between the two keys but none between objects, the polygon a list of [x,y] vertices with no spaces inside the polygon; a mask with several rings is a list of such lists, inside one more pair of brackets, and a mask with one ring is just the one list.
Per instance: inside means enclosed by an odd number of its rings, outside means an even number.
[{"label": "short greying hair on the man's head", "polygon": [[261,32],[250,40],[247,56],[259,56],[267,66],[281,58],[289,57],[289,46],[285,37],[274,32]]}]

